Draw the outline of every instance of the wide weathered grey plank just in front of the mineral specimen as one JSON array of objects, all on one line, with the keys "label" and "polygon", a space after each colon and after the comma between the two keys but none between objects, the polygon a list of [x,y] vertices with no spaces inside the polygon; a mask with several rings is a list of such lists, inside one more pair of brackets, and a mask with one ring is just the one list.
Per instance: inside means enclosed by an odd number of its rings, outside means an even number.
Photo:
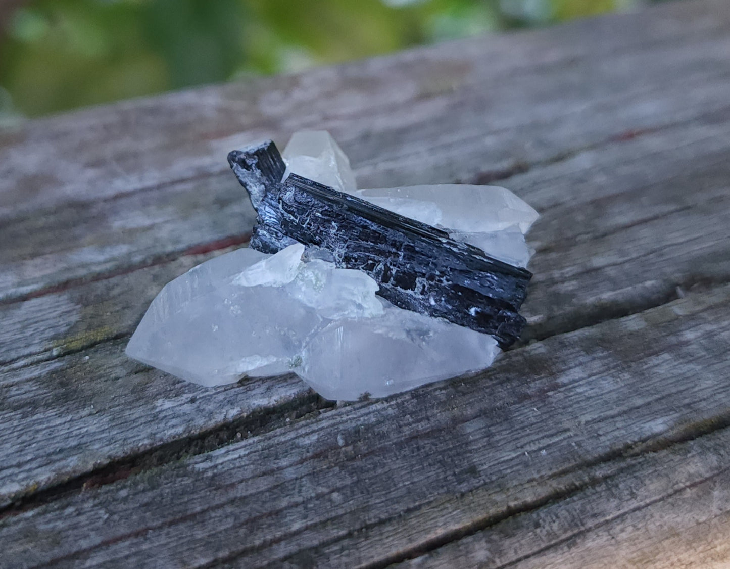
[{"label": "wide weathered grey plank just in front of the mineral specimen", "polygon": [[406,559],[564,496],[585,485],[582,468],[727,421],[729,306],[727,286],[691,294],[511,351],[471,381],[325,411],[7,516],[5,558],[140,568]]}]

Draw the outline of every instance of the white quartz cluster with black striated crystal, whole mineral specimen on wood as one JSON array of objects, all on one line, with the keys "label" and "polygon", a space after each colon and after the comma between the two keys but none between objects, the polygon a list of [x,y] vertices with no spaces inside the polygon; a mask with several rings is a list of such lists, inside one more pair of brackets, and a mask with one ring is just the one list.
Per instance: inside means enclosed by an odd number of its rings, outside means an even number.
[{"label": "white quartz cluster with black striated crystal, whole mineral specimen on wood", "polygon": [[[537,213],[509,191],[357,190],[323,131],[295,134],[283,160],[272,142],[229,160],[258,212],[251,244],[261,251],[226,253],[168,283],[129,356],[209,386],[295,372],[324,397],[354,400],[483,370],[496,338],[517,335],[529,278],[517,266]],[[470,294],[472,324],[494,335],[432,316],[456,302],[464,317]]]}]

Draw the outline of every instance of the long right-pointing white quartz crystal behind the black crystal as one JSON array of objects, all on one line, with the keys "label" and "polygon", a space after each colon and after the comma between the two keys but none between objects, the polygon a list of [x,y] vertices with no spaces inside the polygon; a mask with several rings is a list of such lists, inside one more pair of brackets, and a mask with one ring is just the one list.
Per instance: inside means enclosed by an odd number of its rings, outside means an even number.
[{"label": "long right-pointing white quartz crystal behind the black crystal", "polygon": [[386,210],[454,232],[495,232],[516,225],[525,234],[538,217],[526,202],[499,186],[442,184],[352,193]]}]

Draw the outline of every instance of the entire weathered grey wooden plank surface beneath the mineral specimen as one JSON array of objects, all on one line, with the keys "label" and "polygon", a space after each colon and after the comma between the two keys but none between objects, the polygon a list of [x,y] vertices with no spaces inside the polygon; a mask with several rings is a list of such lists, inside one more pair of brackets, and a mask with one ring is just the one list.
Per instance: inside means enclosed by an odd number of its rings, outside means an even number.
[{"label": "entire weathered grey wooden plank surface beneath the mineral specimen", "polygon": [[[247,240],[226,152],[309,127],[361,186],[537,208],[522,345],[344,406],[124,356],[164,283]],[[0,565],[730,563],[729,159],[724,1],[0,132]]]}]

